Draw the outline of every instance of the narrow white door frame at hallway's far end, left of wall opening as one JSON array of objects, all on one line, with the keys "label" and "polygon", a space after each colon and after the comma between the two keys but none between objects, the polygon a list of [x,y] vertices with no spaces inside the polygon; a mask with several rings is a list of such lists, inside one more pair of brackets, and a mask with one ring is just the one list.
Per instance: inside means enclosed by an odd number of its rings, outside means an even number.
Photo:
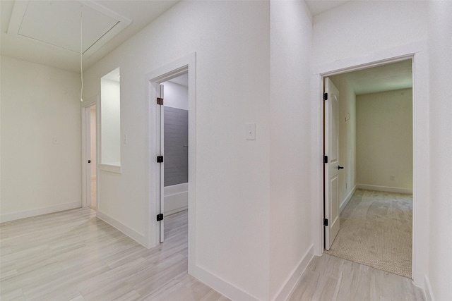
[{"label": "narrow white door frame at hallway's far end, left of wall opening", "polygon": [[[85,99],[84,102],[81,103],[81,118],[82,118],[82,156],[81,156],[81,164],[82,164],[82,207],[88,207],[91,204],[91,172],[90,168],[88,168],[88,159],[91,154],[91,133],[90,133],[90,107],[96,107],[96,157],[99,154],[99,110],[98,110],[98,95],[94,95],[93,97],[89,97]],[[96,158],[96,162],[97,158]],[[97,174],[97,166],[96,166],[96,174]],[[96,187],[97,187],[97,177],[96,177]],[[98,200],[97,189],[96,189],[96,200]]]}]

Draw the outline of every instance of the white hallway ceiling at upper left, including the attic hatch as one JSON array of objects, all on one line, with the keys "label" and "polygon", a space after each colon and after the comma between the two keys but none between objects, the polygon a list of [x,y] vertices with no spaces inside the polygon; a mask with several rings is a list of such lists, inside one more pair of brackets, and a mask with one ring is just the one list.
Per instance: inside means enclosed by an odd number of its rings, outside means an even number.
[{"label": "white hallway ceiling at upper left, including the attic hatch", "polygon": [[177,2],[1,0],[0,53],[80,73],[81,16],[88,68]]}]

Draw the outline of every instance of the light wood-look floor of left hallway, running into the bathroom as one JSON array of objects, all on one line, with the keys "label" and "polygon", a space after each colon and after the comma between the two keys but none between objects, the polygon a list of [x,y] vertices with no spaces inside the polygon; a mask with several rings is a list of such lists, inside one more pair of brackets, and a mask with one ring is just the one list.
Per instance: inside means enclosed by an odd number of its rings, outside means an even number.
[{"label": "light wood-look floor of left hallway, running into the bathroom", "polygon": [[74,209],[1,224],[0,300],[229,300],[187,274],[186,211],[146,249]]}]

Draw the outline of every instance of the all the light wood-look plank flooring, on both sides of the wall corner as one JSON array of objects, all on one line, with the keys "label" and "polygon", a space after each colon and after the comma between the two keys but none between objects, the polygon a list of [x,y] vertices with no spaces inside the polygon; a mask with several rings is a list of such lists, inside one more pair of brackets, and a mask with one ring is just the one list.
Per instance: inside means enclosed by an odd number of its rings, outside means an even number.
[{"label": "all the light wood-look plank flooring, on both sides of the wall corner", "polygon": [[[229,300],[187,274],[187,212],[165,232],[148,250],[89,208],[2,223],[0,300]],[[323,254],[289,300],[424,299],[408,278]]]}]

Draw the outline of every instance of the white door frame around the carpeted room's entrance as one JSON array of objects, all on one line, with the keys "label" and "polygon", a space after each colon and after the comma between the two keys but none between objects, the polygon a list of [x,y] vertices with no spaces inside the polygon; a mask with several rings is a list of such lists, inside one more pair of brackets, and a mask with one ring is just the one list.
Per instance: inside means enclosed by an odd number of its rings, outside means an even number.
[{"label": "white door frame around the carpeted room's entrance", "polygon": [[323,254],[323,78],[396,61],[412,59],[413,77],[413,216],[412,216],[412,279],[424,288],[427,274],[429,233],[429,70],[427,42],[377,51],[367,56],[341,59],[323,66],[314,66],[311,77],[313,126],[313,188],[314,188],[314,252]]}]

